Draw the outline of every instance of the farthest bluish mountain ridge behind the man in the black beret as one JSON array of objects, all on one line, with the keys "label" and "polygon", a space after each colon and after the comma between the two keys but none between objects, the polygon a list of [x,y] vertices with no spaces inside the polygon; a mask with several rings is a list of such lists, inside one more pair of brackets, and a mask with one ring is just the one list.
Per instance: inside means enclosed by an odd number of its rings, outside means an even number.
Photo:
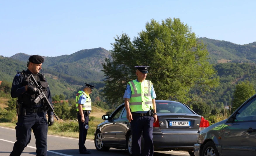
[{"label": "farthest bluish mountain ridge behind the man in the black beret", "polygon": [[[30,55],[17,53],[11,58],[27,63]],[[110,58],[110,52],[104,48],[85,49],[71,55],[44,57],[43,72],[51,77],[65,79],[65,82],[81,84],[81,82],[98,82],[104,78],[102,63]],[[71,78],[72,77],[72,78]]]}]

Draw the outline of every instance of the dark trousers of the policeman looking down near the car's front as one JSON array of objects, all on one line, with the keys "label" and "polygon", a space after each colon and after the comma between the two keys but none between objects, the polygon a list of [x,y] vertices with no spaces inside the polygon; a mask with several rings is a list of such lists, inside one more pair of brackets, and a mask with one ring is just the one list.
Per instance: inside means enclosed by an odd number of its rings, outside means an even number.
[{"label": "dark trousers of the policeman looking down near the car's front", "polygon": [[[88,116],[84,115],[84,122],[82,122],[81,115],[79,114],[79,112],[77,112],[77,120],[79,124],[79,141],[78,141],[79,152],[85,152],[86,147],[84,146],[84,143],[85,143],[87,131],[89,128],[89,115]],[[87,129],[85,128],[85,125],[88,125]]]}]

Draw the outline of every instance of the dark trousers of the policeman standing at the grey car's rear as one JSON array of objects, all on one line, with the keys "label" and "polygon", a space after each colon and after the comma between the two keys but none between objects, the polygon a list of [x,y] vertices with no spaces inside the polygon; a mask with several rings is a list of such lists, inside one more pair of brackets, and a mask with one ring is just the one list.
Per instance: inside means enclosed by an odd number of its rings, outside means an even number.
[{"label": "dark trousers of the policeman standing at the grey car's rear", "polygon": [[[134,114],[134,113],[132,113]],[[132,115],[132,155],[133,156],[153,156],[153,122],[154,118],[151,116]],[[143,131],[143,133],[142,133]],[[141,151],[141,133],[143,135],[145,144]]]}]

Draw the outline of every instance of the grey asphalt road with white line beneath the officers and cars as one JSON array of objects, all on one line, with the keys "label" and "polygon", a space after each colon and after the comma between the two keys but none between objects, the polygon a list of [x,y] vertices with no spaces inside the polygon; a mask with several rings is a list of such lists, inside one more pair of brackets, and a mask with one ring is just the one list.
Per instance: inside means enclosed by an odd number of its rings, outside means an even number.
[{"label": "grey asphalt road with white line beneath the officers and cars", "polygon": [[[16,141],[15,129],[6,128],[0,126],[0,155],[9,156],[13,144]],[[61,136],[47,136],[47,156],[81,156],[78,150],[78,139],[77,138],[68,138]],[[85,146],[87,150],[91,152],[90,156],[128,156],[126,150],[117,150],[115,148],[110,148],[108,152],[99,152],[96,150],[93,140],[86,140]],[[24,149],[21,156],[35,156],[36,155],[36,145],[35,137],[32,133],[31,141],[28,146]],[[189,156],[188,152],[185,151],[169,151],[154,152],[154,156]]]}]

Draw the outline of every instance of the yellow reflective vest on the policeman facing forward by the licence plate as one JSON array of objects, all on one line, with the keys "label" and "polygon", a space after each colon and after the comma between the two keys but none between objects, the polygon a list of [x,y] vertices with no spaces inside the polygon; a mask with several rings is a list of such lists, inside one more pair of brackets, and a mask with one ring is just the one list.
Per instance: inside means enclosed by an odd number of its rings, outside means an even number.
[{"label": "yellow reflective vest on the policeman facing forward by the licence plate", "polygon": [[152,82],[144,80],[143,82],[137,82],[136,80],[128,82],[131,86],[132,94],[130,98],[130,108],[132,112],[136,111],[148,111],[153,108],[151,97]]}]

